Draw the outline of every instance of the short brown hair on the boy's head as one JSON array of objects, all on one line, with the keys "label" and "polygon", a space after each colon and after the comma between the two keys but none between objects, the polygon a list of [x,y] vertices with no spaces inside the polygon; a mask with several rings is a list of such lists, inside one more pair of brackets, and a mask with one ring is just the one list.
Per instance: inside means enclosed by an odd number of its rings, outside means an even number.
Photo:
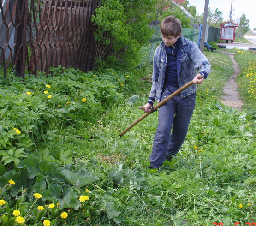
[{"label": "short brown hair on the boy's head", "polygon": [[173,36],[177,38],[181,34],[182,26],[179,19],[168,16],[163,19],[160,30],[163,36]]}]

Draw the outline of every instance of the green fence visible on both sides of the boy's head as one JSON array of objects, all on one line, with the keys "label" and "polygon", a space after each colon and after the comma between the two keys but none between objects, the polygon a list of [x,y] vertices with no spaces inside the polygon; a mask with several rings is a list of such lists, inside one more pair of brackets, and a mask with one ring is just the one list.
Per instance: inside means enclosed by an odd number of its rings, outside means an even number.
[{"label": "green fence visible on both sides of the boy's head", "polygon": [[[140,64],[144,64],[148,62],[152,63],[155,49],[159,46],[159,44],[162,41],[160,26],[150,25],[150,28],[155,30],[155,33],[153,34],[152,39],[149,40],[149,45],[142,47]],[[194,28],[182,29],[182,35],[185,38],[190,39],[191,41],[196,43],[198,41],[198,34],[199,34],[199,29],[194,29]]]}]

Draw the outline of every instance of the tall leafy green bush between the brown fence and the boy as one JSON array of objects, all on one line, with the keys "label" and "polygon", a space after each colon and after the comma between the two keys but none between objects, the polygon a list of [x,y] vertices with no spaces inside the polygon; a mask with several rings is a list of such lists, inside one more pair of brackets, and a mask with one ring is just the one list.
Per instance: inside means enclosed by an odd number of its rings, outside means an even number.
[{"label": "tall leafy green bush between the brown fence and the boy", "polygon": [[[92,21],[97,25],[95,38],[105,46],[97,53],[101,67],[128,68],[138,65],[139,51],[152,36],[148,13],[155,0],[102,0]],[[103,60],[103,61],[101,61]]]}]

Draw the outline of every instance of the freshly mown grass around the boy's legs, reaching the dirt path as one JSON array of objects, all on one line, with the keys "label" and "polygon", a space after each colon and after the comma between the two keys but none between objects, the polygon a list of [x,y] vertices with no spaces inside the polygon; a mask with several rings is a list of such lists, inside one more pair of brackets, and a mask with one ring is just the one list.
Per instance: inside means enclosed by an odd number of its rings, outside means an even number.
[{"label": "freshly mown grass around the boy's legs, reaching the dirt path", "polygon": [[146,169],[157,113],[119,137],[119,132],[143,114],[138,106],[147,101],[149,81],[141,82],[140,89],[133,92],[140,95],[136,104],[113,104],[102,115],[107,117],[107,124],[102,120],[102,127],[92,128],[92,132],[102,137],[95,137],[90,143],[95,155],[83,149],[83,156],[102,163],[127,164],[142,172],[149,183],[148,192],[140,195],[133,192],[123,199],[126,219],[123,225],[202,226],[214,222],[233,225],[238,221],[245,225],[256,221],[254,204],[251,204],[255,199],[255,185],[250,182],[256,173],[252,121],[246,112],[239,113],[219,102],[222,88],[233,74],[231,59],[217,52],[205,54],[212,64],[212,72],[199,86],[184,145],[174,161],[165,162],[162,172]]}]

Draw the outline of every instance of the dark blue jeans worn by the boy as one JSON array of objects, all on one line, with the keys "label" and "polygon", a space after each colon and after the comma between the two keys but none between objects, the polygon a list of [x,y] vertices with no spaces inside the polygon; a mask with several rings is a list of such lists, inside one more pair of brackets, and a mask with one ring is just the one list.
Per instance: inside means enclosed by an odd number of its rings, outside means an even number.
[{"label": "dark blue jeans worn by the boy", "polygon": [[[165,86],[161,94],[161,101],[177,89],[175,86]],[[151,168],[161,167],[165,159],[171,159],[179,152],[186,138],[195,104],[196,93],[184,98],[178,94],[159,108],[159,124],[149,157]]]}]

